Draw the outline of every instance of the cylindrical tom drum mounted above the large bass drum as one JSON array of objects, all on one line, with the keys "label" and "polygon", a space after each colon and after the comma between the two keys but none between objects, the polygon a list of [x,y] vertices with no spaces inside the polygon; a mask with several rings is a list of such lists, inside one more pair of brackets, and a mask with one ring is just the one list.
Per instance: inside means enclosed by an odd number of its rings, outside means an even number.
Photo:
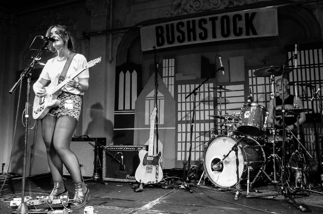
[{"label": "cylindrical tom drum mounted above the large bass drum", "polygon": [[267,127],[268,110],[258,103],[244,104],[241,108],[241,118],[238,131],[246,136],[261,137]]}]

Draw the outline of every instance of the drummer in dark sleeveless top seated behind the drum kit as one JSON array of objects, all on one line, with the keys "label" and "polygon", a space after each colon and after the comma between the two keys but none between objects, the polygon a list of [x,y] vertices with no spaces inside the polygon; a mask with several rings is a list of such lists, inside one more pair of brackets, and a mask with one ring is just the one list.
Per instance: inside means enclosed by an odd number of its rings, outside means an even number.
[{"label": "drummer in dark sleeveless top seated behind the drum kit", "polygon": [[[285,103],[284,103],[285,110],[304,109],[300,98],[296,97],[295,95],[292,95],[290,93],[290,86],[288,85],[288,82],[289,81],[286,78],[283,78],[283,81],[281,78],[276,81],[276,90],[279,93],[279,95],[275,97],[275,105],[276,105],[275,109],[276,110],[282,109],[283,91],[284,91],[284,99],[285,99]],[[287,112],[287,113],[285,113],[284,119],[285,119],[285,124],[287,125],[287,127],[297,137],[297,115],[292,112]],[[304,133],[303,133],[302,126],[301,126],[305,122],[305,120],[306,120],[305,113],[301,112],[299,115],[299,121],[298,121],[301,143],[304,143],[304,141],[305,141]],[[273,103],[272,103],[272,101],[270,101],[270,103],[269,103],[269,114],[268,114],[268,118],[267,118],[267,123],[273,124]],[[278,112],[278,111],[275,112],[275,129],[283,129],[282,114],[281,114],[281,112]],[[286,130],[288,130],[288,129],[286,128]],[[297,142],[297,141],[294,140],[294,142]]]}]

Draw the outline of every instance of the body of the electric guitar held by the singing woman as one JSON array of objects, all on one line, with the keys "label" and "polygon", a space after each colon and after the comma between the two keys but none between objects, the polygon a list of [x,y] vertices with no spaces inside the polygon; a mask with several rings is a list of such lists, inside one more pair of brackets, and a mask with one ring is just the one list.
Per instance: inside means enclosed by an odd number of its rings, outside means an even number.
[{"label": "body of the electric guitar held by the singing woman", "polygon": [[[50,91],[51,87],[45,87],[46,91]],[[32,111],[32,117],[35,120],[41,120],[43,119],[46,114],[49,112],[51,108],[55,108],[59,106],[61,103],[60,100],[57,99],[57,97],[61,94],[61,92],[57,92],[55,94],[47,93],[46,96],[38,97],[35,96],[34,104],[33,104],[33,111]]]}]

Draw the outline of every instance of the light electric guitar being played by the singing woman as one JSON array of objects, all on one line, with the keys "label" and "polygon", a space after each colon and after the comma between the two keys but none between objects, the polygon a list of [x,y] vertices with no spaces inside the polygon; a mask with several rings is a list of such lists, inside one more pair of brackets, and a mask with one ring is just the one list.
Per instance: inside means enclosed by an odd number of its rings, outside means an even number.
[{"label": "light electric guitar being played by the singing woman", "polygon": [[[75,72],[75,74],[72,75],[70,77],[70,79],[74,79],[80,73],[82,73],[85,69],[91,68],[99,62],[101,62],[100,57],[96,58],[94,60],[91,60],[90,62],[87,63],[85,68]],[[58,84],[56,86],[45,87],[45,89],[47,91],[45,96],[42,96],[42,97],[35,96],[34,104],[33,104],[33,112],[32,112],[32,117],[35,120],[43,119],[51,108],[55,108],[55,107],[59,106],[61,101],[58,100],[57,97],[61,94],[61,92],[62,92],[61,88],[63,88],[65,86],[67,81],[68,80],[65,79],[64,81],[62,81],[60,84]]]}]

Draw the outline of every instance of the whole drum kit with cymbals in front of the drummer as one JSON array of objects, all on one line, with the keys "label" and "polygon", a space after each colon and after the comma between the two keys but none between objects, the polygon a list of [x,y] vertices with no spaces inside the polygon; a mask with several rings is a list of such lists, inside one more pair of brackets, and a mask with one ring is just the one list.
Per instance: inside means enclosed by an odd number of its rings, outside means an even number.
[{"label": "whole drum kit with cymbals in front of the drummer", "polygon": [[[274,77],[290,71],[289,68],[272,66],[258,69],[254,75],[271,78],[271,97],[274,100]],[[220,100],[221,91],[233,91],[222,86],[214,87],[214,89],[218,90]],[[273,106],[275,106],[274,103]],[[295,108],[286,111],[299,116],[300,113],[311,110]],[[241,107],[240,113],[222,116],[221,103],[219,112],[220,115],[209,116],[220,119],[220,125],[217,127],[221,127],[221,134],[214,134],[214,129],[211,129],[212,138],[203,153],[204,172],[202,176],[207,177],[215,186],[221,188],[233,188],[240,186],[240,182],[245,182],[248,193],[251,185],[260,179],[268,178],[272,183],[278,183],[282,179],[282,170],[285,168],[282,166],[285,163],[283,162],[285,154],[282,153],[284,151],[282,147],[284,144],[293,146],[292,141],[296,136],[287,129],[284,140],[283,130],[267,128],[269,111],[265,106],[253,102],[251,95],[248,97],[248,103]],[[273,115],[275,117],[275,113]],[[299,130],[299,127],[297,128]],[[301,143],[299,144],[303,146]],[[305,148],[300,150],[308,153]],[[293,158],[293,155],[289,157]],[[290,173],[299,169],[297,164],[295,166],[295,163],[291,162],[294,161],[289,160],[286,167]],[[288,177],[291,177],[291,174]]]}]

